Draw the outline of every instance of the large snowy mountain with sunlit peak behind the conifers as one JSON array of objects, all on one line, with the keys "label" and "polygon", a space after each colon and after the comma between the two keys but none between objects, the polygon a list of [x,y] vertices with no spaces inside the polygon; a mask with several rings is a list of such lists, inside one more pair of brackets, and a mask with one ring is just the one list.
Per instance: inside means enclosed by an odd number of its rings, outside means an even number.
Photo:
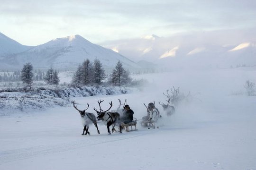
[{"label": "large snowy mountain with sunlit peak behind the conifers", "polygon": [[118,60],[126,68],[140,68],[132,60],[93,44],[80,35],[57,38],[28,51],[6,55],[0,66],[21,68],[26,62],[31,62],[34,68],[76,69],[85,59],[100,59],[105,68],[115,67]]}]

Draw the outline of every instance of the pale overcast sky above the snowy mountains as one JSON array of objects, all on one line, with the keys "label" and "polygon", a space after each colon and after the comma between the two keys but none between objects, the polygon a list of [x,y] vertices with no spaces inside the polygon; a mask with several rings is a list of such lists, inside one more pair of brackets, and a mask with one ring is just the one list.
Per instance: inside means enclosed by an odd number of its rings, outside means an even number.
[{"label": "pale overcast sky above the snowy mountains", "polygon": [[0,32],[24,45],[256,28],[256,0],[0,0]]}]

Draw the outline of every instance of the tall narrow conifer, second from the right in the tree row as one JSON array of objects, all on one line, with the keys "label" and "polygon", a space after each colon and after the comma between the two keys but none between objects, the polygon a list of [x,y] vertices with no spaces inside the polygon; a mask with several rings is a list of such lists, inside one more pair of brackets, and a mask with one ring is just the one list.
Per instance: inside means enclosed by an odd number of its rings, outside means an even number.
[{"label": "tall narrow conifer, second from the right in the tree row", "polygon": [[92,82],[100,85],[105,77],[105,70],[102,68],[101,61],[99,59],[94,59]]}]

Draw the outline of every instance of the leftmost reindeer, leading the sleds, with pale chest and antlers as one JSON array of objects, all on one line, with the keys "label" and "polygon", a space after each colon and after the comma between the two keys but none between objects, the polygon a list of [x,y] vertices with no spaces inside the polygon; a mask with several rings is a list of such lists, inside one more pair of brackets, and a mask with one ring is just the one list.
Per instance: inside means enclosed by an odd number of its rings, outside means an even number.
[{"label": "leftmost reindeer, leading the sleds, with pale chest and antlers", "polygon": [[[73,103],[73,107],[76,110],[78,110],[76,105],[75,105],[76,104],[75,101],[72,101],[72,103]],[[95,115],[93,113],[86,112],[86,110],[89,108],[89,104],[88,103],[87,103],[87,106],[88,107],[85,110],[78,110],[80,115],[81,115],[81,120],[82,120],[82,125],[83,125],[82,135],[87,135],[87,134],[90,135],[90,132],[88,131],[88,129],[89,129],[89,125],[92,124],[92,123],[97,128],[98,134],[100,134],[100,131],[99,131],[98,126],[97,126],[96,117],[95,117]],[[85,134],[84,134],[84,131],[86,131]]]}]

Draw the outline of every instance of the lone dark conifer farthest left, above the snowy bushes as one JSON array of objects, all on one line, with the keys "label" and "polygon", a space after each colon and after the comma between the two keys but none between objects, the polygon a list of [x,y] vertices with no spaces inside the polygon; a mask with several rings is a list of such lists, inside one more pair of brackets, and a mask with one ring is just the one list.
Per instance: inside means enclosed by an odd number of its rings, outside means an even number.
[{"label": "lone dark conifer farthest left, above the snowy bushes", "polygon": [[20,75],[21,81],[27,84],[31,89],[31,85],[33,83],[33,76],[34,76],[32,64],[30,62],[24,64],[20,74],[21,74]]}]

